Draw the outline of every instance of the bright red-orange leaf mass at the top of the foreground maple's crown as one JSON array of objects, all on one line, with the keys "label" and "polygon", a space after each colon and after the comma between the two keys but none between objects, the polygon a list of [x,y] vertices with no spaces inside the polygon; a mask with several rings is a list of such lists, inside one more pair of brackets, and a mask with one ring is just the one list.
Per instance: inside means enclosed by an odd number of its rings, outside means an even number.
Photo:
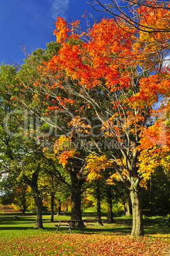
[{"label": "bright red-orange leaf mass at the top of the foreground maple's crown", "polygon": [[[80,85],[87,89],[101,85],[101,78],[104,78],[106,87],[111,92],[118,89],[118,83],[120,89],[129,87],[131,74],[127,74],[127,71],[124,74],[123,70],[130,62],[122,59],[125,55],[131,55],[132,51],[132,35],[128,31],[122,31],[113,19],[103,18],[101,22],[94,24],[89,32],[81,34],[83,37],[87,36],[88,43],[81,41],[74,44],[67,41],[80,38],[77,32],[79,20],[71,24],[71,30],[60,17],[55,24],[57,29],[54,34],[57,36],[57,42],[62,43],[62,47],[59,55],[53,56],[52,60],[46,63],[48,71],[54,71],[57,64],[56,71],[64,69],[67,76],[78,80]],[[124,27],[124,24],[122,26]],[[72,34],[69,35],[69,32]]]}]

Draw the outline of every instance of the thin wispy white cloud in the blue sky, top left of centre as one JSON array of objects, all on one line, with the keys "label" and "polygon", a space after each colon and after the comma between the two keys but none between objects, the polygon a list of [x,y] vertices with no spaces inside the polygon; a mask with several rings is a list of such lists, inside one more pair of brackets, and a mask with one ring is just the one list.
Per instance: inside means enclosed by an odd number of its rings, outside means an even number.
[{"label": "thin wispy white cloud in the blue sky, top left of centre", "polygon": [[56,20],[57,17],[66,19],[66,11],[69,6],[69,0],[51,0],[51,14],[52,18]]}]

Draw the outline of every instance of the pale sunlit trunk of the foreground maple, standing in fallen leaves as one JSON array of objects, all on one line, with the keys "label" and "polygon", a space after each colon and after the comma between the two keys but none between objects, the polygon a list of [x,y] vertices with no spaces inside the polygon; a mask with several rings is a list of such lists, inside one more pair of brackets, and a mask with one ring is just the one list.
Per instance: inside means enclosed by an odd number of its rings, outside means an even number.
[{"label": "pale sunlit trunk of the foreground maple, standing in fallen leaves", "polygon": [[139,196],[139,180],[131,177],[131,202],[132,202],[132,232],[131,236],[143,236],[143,217],[141,199]]}]

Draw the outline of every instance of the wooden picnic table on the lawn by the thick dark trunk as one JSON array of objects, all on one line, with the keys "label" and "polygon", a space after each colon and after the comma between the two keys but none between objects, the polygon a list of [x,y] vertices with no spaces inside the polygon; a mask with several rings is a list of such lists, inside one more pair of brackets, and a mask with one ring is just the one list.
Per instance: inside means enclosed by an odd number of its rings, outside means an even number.
[{"label": "wooden picnic table on the lawn by the thick dark trunk", "polygon": [[[78,225],[76,225],[76,224],[78,224]],[[84,224],[83,220],[60,220],[59,225],[55,225],[55,227],[57,227],[55,234],[57,234],[60,227],[67,227],[68,232],[70,232],[71,234],[72,234],[71,229],[73,227],[79,227],[83,233],[83,227],[85,227],[85,224]]]}]

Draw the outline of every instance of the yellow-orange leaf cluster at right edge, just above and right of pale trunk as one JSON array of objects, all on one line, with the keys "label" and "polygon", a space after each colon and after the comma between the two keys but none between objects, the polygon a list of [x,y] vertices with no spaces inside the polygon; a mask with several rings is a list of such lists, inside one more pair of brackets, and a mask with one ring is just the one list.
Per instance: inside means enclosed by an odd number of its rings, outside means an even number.
[{"label": "yellow-orange leaf cluster at right edge, just above and right of pale trunk", "polygon": [[139,168],[138,172],[143,175],[141,185],[146,185],[146,181],[158,166],[162,166],[165,171],[170,170],[170,134],[164,118],[162,113],[162,118],[143,131],[143,138],[139,141],[141,144],[136,148],[139,150],[136,166]]}]

